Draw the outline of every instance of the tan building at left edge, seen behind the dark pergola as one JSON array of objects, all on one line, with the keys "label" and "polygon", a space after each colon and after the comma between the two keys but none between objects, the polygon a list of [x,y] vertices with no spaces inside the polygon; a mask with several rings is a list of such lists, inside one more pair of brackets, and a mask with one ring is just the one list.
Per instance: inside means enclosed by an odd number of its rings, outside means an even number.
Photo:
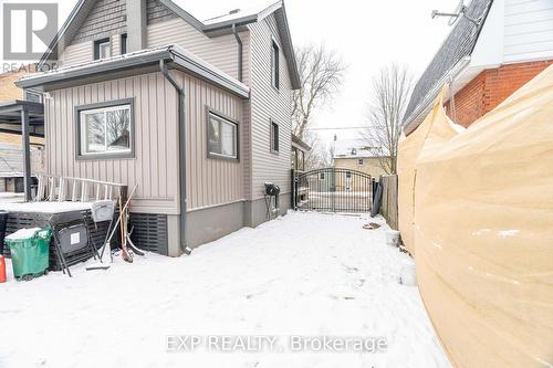
[{"label": "tan building at left edge, seen behind the dark pergola", "polygon": [[[17,71],[0,74],[0,106],[12,105],[18,101],[40,101],[40,95],[24,92],[15,85],[21,76],[33,73],[34,65],[25,65]],[[0,116],[0,192],[23,192],[23,149],[22,138],[14,133],[19,127],[6,124]],[[31,171],[43,169],[42,164],[44,138],[40,134],[30,137],[31,143]],[[35,183],[36,179],[32,179]]]}]

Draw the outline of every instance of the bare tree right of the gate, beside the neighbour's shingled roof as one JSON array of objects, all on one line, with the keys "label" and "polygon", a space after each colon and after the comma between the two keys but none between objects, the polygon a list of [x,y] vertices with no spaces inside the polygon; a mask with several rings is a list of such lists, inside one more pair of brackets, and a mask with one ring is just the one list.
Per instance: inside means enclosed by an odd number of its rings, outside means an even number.
[{"label": "bare tree right of the gate, beside the neighbour's shingled roof", "polygon": [[411,76],[406,66],[390,64],[373,80],[368,126],[362,135],[367,145],[374,147],[387,174],[397,171],[397,144],[410,92]]}]

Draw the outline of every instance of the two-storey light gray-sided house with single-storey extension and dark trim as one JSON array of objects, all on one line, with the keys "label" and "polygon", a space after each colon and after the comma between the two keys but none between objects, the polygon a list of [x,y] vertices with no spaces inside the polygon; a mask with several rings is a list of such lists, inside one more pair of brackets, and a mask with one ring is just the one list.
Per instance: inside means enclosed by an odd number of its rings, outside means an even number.
[{"label": "two-storey light gray-sided house with single-storey extension and dark trim", "polygon": [[[299,73],[284,3],[200,21],[186,1],[80,0],[42,65],[45,170],[137,191],[131,221],[179,255],[291,203]],[[134,220],[133,220],[134,219]],[[165,244],[161,244],[165,243]]]}]

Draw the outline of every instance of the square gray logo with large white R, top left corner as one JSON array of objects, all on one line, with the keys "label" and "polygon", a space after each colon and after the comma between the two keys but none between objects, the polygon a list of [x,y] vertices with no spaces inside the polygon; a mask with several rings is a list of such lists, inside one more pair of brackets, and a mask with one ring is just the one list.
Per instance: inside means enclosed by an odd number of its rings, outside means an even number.
[{"label": "square gray logo with large white R, top left corner", "polygon": [[39,60],[58,33],[56,3],[3,4],[4,60]]}]

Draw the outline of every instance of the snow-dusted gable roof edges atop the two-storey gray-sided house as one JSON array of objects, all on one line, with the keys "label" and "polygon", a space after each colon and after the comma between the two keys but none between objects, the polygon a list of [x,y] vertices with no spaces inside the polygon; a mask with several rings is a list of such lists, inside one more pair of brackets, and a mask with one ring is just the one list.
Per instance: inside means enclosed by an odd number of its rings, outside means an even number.
[{"label": "snow-dusted gable roof edges atop the two-storey gray-sided house", "polygon": [[[232,25],[246,25],[253,22],[262,21],[268,15],[274,13],[276,19],[276,24],[279,28],[279,33],[282,39],[283,52],[286,59],[286,64],[290,71],[290,77],[292,81],[292,88],[300,88],[300,73],[298,71],[298,65],[295,62],[295,54],[292,44],[292,36],[290,34],[290,27],[288,24],[286,13],[284,9],[284,2],[279,0],[269,6],[259,7],[255,10],[248,12],[236,12],[229,13],[216,18],[208,19],[206,21],[199,21],[192,14],[187,12],[184,8],[186,3],[181,0],[158,0],[173,13],[185,20],[187,23],[196,28],[198,31],[205,33],[208,36],[217,36],[232,31]],[[75,8],[73,8],[67,20],[60,29],[60,32],[54,38],[50,45],[50,50],[54,53],[59,53],[65,49],[66,45],[71,43],[74,35],[79,31],[80,27],[86,20],[90,11],[93,9],[95,0],[79,0]],[[50,52],[44,53],[40,63],[39,70],[51,55]]]}]

